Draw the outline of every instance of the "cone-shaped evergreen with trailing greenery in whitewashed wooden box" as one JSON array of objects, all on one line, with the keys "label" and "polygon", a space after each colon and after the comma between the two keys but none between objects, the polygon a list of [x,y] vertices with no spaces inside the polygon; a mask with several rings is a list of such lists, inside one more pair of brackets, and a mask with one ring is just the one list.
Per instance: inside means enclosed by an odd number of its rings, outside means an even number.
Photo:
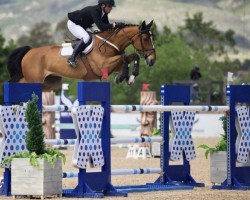
[{"label": "cone-shaped evergreen with trailing greenery in whitewashed wooden box", "polygon": [[46,148],[44,132],[37,108],[38,96],[28,101],[25,117],[29,131],[26,134],[28,152],[20,152],[4,160],[11,163],[12,195],[59,195],[62,194],[62,160],[65,155],[53,148]]}]

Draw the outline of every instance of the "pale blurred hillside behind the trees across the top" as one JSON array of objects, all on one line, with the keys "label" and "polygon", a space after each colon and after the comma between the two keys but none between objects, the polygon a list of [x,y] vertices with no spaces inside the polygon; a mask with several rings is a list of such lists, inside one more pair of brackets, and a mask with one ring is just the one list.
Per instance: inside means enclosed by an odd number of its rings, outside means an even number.
[{"label": "pale blurred hillside behind the trees across the top", "polygon": [[[0,29],[7,39],[16,39],[32,26],[48,21],[55,27],[67,12],[94,5],[97,0],[0,0]],[[203,12],[221,31],[233,29],[240,48],[250,49],[250,0],[116,0],[111,21],[138,23],[154,19],[161,31],[183,25],[187,15]]]}]

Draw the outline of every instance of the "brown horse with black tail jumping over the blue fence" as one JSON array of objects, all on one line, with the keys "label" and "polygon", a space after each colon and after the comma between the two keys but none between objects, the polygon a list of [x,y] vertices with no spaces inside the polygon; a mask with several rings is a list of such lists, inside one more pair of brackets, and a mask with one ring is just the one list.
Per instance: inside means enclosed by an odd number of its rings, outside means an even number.
[{"label": "brown horse with black tail jumping over the blue fence", "polygon": [[[43,83],[43,90],[51,90],[61,84],[61,77],[91,81],[101,79],[105,70],[107,74],[122,72],[116,77],[116,83],[124,79],[129,81],[128,65],[135,60],[138,67],[139,61],[137,54],[125,55],[124,50],[129,45],[133,45],[149,66],[156,60],[150,32],[152,23],[147,25],[144,21],[141,25],[125,25],[122,29],[93,34],[94,47],[78,59],[76,68],[68,66],[68,56],[60,55],[62,46],[20,47],[12,52],[8,60],[10,82]],[[136,68],[134,76],[138,73]]]}]

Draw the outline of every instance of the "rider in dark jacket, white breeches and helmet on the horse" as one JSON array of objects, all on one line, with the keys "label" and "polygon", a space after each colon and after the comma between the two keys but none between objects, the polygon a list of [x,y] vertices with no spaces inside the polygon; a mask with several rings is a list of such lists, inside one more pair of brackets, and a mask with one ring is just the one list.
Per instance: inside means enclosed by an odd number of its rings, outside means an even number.
[{"label": "rider in dark jacket, white breeches and helmet on the horse", "polygon": [[124,23],[109,23],[108,14],[112,7],[115,7],[114,0],[98,0],[98,5],[68,13],[68,29],[76,38],[80,39],[68,60],[69,65],[76,67],[77,55],[91,43],[91,37],[85,29],[91,28],[94,23],[101,31],[124,26]]}]

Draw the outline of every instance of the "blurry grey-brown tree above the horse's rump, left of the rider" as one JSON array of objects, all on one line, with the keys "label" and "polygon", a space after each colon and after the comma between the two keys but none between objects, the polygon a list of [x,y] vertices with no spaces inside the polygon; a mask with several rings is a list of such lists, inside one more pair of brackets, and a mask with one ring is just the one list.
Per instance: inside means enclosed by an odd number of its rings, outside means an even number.
[{"label": "blurry grey-brown tree above the horse's rump, left of the rider", "polygon": [[40,47],[52,45],[54,43],[50,23],[40,22],[35,24],[28,35],[23,35],[17,40],[18,46],[29,45],[32,47]]}]

